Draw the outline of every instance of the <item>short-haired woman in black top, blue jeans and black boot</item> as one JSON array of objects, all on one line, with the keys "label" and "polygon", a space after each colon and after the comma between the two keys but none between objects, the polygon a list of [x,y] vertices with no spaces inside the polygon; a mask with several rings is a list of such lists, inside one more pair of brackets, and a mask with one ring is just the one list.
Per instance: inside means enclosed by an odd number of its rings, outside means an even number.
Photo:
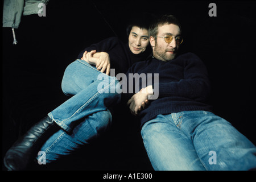
[{"label": "short-haired woman in black top, blue jeans and black boot", "polygon": [[[46,152],[47,163],[53,162],[108,129],[112,122],[109,107],[116,105],[120,97],[111,92],[119,81],[108,76],[110,68],[115,68],[116,74],[125,73],[133,63],[149,56],[150,19],[142,17],[129,26],[129,43],[122,43],[118,38],[103,40],[86,48],[79,59],[68,65],[61,86],[65,94],[73,97],[48,113],[14,143],[4,159],[7,169],[26,169],[39,151]],[[104,86],[99,89],[98,85]]]}]

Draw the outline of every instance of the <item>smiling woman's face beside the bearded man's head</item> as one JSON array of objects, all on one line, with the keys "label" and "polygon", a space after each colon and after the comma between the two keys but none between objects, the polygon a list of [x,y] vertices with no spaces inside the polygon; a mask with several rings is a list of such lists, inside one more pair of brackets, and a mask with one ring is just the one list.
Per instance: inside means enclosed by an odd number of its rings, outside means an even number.
[{"label": "smiling woman's face beside the bearded man's head", "polygon": [[129,48],[134,54],[142,53],[149,44],[148,30],[133,26],[129,35]]}]

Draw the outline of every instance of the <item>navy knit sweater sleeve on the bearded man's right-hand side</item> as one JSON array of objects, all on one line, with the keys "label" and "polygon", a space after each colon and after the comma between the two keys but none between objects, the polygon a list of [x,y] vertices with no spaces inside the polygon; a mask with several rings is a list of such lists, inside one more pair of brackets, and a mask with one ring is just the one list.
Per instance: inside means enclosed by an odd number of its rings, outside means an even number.
[{"label": "navy knit sweater sleeve on the bearded man's right-hand side", "polygon": [[207,69],[199,57],[192,53],[189,55],[189,59],[184,61],[183,79],[154,84],[154,89],[158,89],[159,97],[177,96],[196,101],[207,99],[210,93]]}]

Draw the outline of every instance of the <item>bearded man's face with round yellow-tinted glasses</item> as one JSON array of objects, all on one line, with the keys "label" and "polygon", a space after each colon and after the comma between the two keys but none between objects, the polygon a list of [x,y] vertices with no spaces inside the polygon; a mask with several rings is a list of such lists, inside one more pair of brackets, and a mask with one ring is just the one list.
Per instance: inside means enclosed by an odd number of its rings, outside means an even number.
[{"label": "bearded man's face with round yellow-tinted glasses", "polygon": [[154,57],[162,61],[170,61],[176,56],[179,44],[176,44],[175,38],[180,35],[179,26],[176,26],[176,24],[164,24],[158,27],[158,35],[156,36],[164,37],[166,35],[172,36],[173,39],[171,43],[166,43],[164,38],[150,37]]}]

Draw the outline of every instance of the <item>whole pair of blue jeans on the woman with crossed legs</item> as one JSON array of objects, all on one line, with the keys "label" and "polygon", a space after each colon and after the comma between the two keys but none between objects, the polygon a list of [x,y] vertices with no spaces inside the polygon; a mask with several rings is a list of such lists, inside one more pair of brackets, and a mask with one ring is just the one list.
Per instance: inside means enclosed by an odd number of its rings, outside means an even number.
[{"label": "whole pair of blue jeans on the woman with crossed legs", "polygon": [[108,107],[117,104],[121,98],[114,92],[117,86],[117,78],[97,71],[84,60],[68,65],[61,87],[65,94],[73,96],[48,113],[61,130],[40,149],[46,153],[46,162],[70,154],[108,128],[112,122]]}]

